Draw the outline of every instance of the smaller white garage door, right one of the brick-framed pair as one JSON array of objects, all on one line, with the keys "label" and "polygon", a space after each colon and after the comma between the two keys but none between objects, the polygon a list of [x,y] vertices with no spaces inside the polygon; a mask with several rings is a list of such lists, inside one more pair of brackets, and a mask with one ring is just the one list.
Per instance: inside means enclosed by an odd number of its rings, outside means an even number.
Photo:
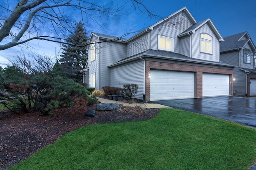
[{"label": "smaller white garage door, right one of the brick-framed pair", "polygon": [[229,95],[229,75],[203,73],[203,97]]}]

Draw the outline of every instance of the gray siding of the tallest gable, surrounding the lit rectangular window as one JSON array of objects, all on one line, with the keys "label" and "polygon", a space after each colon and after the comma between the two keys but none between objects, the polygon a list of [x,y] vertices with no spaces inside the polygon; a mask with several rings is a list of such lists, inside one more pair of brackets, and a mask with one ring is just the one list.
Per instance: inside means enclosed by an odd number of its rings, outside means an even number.
[{"label": "gray siding of the tallest gable, surrounding the lit rectangular window", "polygon": [[[178,22],[174,25],[174,22]],[[180,39],[177,37],[180,33],[191,27],[192,24],[185,14],[179,13],[168,19],[161,25],[157,25],[150,32],[150,48],[158,50],[158,35],[174,39],[174,53],[180,53]]]}]

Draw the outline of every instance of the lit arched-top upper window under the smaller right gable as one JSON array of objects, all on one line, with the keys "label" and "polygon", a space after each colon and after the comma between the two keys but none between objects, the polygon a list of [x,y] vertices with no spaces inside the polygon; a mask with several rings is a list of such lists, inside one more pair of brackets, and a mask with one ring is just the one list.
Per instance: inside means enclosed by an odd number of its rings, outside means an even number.
[{"label": "lit arched-top upper window under the smaller right gable", "polygon": [[212,37],[210,35],[200,35],[200,52],[212,54]]}]

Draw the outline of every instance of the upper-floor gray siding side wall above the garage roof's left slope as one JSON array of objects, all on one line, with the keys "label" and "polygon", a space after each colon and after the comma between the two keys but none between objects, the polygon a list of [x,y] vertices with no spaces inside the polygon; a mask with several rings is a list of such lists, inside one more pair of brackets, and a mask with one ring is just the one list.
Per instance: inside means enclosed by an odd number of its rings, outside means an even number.
[{"label": "upper-floor gray siding side wall above the garage roof's left slope", "polygon": [[127,57],[146,51],[148,48],[148,33],[145,33],[127,44]]}]

